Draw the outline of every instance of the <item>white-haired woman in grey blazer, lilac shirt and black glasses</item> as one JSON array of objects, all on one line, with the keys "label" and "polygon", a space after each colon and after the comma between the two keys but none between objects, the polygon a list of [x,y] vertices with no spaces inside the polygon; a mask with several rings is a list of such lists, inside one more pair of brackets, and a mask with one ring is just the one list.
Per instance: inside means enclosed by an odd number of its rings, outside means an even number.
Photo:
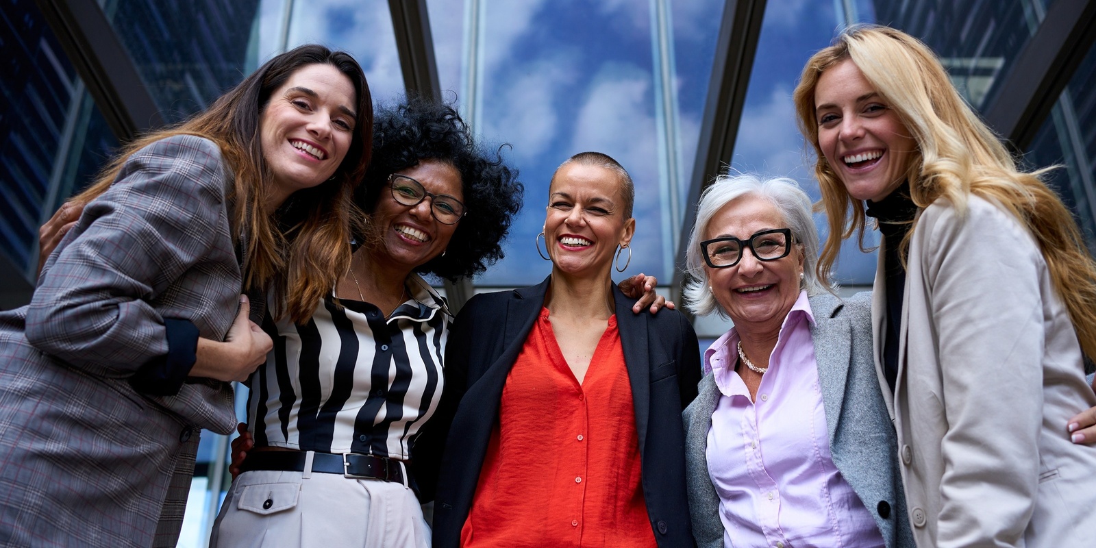
[{"label": "white-haired woman in grey blazer, lilac shirt and black glasses", "polygon": [[810,198],[788,179],[722,175],[697,209],[685,297],[734,322],[685,410],[697,544],[914,546],[871,299],[817,276]]}]

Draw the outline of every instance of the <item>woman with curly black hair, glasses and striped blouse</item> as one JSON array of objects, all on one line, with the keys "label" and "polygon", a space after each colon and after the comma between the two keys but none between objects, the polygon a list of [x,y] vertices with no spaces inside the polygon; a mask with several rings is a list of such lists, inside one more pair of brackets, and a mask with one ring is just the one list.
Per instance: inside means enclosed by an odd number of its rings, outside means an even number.
[{"label": "woman with curly black hair, glasses and striped blouse", "polygon": [[[444,386],[453,315],[421,277],[501,259],[523,186],[457,112],[378,109],[350,270],[310,320],[267,321],[240,466],[210,546],[429,546],[411,446]],[[380,480],[380,481],[378,481]]]}]

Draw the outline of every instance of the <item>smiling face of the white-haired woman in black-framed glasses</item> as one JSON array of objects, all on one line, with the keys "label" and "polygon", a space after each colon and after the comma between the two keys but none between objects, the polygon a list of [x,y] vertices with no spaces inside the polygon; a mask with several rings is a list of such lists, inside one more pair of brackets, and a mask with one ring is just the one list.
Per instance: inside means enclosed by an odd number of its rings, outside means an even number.
[{"label": "smiling face of the white-haired woman in black-framed glasses", "polygon": [[[767,199],[745,195],[723,206],[708,222],[704,239],[751,236],[776,228],[788,228],[780,212]],[[774,261],[758,261],[751,250],[742,250],[734,266],[712,269],[705,265],[716,300],[742,330],[778,332],[784,318],[799,298],[803,272],[802,246]]]}]

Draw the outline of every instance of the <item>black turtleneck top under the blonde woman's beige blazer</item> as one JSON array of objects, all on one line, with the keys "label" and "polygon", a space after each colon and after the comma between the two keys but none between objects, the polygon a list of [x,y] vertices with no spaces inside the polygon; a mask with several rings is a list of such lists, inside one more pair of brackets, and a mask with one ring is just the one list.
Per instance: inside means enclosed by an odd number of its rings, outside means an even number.
[{"label": "black turtleneck top under the blonde woman's beige blazer", "polygon": [[887,384],[890,385],[891,392],[893,392],[894,383],[898,379],[902,297],[905,294],[905,267],[902,266],[899,250],[902,247],[902,239],[913,226],[913,217],[917,214],[917,206],[910,197],[910,186],[906,184],[899,186],[879,202],[869,199],[867,206],[868,209],[865,214],[879,221],[879,231],[883,236],[883,254],[879,258],[883,262],[883,275],[887,282],[887,322],[883,326],[883,329],[887,330],[887,336],[883,340],[883,373],[887,376]]}]

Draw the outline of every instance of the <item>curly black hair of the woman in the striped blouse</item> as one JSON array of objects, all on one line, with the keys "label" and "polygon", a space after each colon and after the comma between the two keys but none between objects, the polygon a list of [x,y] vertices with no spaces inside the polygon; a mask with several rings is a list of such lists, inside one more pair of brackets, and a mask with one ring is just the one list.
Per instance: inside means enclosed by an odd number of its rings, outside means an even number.
[{"label": "curly black hair of the woman in the striped blouse", "polygon": [[410,99],[395,106],[378,106],[374,113],[373,160],[357,187],[355,202],[372,214],[388,185],[388,175],[422,160],[453,165],[460,172],[468,213],[457,225],[445,254],[415,272],[450,281],[479,274],[502,259],[502,240],[522,208],[525,192],[517,181],[517,170],[502,159],[503,147],[482,148],[457,111],[444,103]]}]

